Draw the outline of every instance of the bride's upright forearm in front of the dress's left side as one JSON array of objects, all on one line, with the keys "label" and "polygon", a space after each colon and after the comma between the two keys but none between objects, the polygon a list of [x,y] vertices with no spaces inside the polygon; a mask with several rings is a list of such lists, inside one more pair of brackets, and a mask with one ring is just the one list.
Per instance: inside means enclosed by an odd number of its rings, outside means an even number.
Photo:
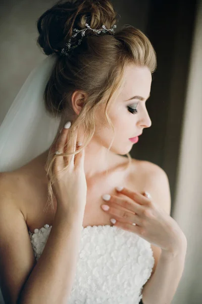
[{"label": "bride's upright forearm in front of the dress's left side", "polygon": [[67,303],[76,272],[82,221],[82,211],[72,216],[56,212],[43,252],[18,303]]}]

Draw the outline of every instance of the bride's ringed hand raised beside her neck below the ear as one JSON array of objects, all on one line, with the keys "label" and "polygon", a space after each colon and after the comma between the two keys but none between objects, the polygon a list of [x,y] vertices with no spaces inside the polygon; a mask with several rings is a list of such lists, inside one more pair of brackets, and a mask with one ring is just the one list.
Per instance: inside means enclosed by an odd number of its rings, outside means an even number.
[{"label": "bride's ringed hand raised beside her neck below the ear", "polygon": [[[54,173],[57,181],[53,183],[53,192],[57,199],[57,208],[62,208],[64,211],[69,210],[84,210],[86,204],[86,177],[84,172],[84,157],[85,148],[75,156],[65,156],[66,145],[68,141],[68,133],[71,123],[66,124],[66,128],[61,130],[61,133],[52,146],[51,152],[59,151],[61,155],[57,155],[54,161]],[[76,129],[73,135],[73,151],[75,152],[81,147],[84,139],[83,128]],[[81,143],[81,145],[79,145]],[[65,169],[65,166],[69,166]]]}]

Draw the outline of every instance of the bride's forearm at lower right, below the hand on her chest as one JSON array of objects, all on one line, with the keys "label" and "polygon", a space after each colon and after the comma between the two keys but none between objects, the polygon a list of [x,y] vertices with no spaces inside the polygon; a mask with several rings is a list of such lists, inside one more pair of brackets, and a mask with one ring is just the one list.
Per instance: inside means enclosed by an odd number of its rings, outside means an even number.
[{"label": "bride's forearm at lower right, below the hand on her chest", "polygon": [[183,243],[178,252],[162,251],[155,273],[143,287],[143,304],[170,304],[184,269],[186,244]]}]

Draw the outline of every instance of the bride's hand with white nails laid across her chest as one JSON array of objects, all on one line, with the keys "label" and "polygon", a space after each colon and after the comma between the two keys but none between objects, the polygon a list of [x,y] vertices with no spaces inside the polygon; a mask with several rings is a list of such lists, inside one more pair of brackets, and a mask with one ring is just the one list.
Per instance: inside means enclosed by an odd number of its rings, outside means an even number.
[{"label": "bride's hand with white nails laid across her chest", "polygon": [[[119,193],[125,197],[120,196]],[[147,193],[142,195],[124,187],[121,191],[117,191],[117,196],[106,197],[109,210],[105,212],[116,219],[115,226],[139,235],[162,250],[173,252],[185,236],[177,222],[157,206],[150,196],[149,198],[146,196]]]}]

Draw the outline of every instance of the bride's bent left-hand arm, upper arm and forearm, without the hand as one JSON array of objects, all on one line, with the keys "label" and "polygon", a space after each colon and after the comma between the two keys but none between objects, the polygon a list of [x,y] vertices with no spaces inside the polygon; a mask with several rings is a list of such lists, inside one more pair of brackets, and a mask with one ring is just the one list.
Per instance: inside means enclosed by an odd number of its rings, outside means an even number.
[{"label": "bride's bent left-hand arm, upper arm and forearm, without the hand", "polygon": [[[2,173],[3,174],[3,173]],[[37,263],[19,202],[0,174],[0,282],[5,303],[67,303],[76,273],[84,208],[57,209]]]}]

